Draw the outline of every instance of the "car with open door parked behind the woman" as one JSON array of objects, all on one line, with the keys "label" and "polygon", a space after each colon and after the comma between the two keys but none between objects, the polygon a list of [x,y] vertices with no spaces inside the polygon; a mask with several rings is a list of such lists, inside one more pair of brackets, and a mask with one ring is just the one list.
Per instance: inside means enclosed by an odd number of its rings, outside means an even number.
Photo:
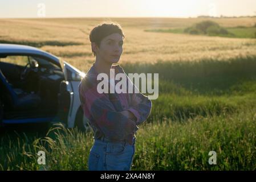
[{"label": "car with open door parked behind the woman", "polygon": [[41,49],[0,44],[0,124],[61,122],[90,130],[78,92],[84,76]]}]

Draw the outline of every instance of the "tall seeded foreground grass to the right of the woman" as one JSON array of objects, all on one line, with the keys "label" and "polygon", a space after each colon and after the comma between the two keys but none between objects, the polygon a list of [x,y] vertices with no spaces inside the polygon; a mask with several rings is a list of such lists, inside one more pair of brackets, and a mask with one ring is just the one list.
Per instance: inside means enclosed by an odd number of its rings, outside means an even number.
[{"label": "tall seeded foreground grass to the right of the woman", "polygon": [[[255,110],[141,127],[133,169],[255,170]],[[209,165],[209,151],[217,165]]]}]

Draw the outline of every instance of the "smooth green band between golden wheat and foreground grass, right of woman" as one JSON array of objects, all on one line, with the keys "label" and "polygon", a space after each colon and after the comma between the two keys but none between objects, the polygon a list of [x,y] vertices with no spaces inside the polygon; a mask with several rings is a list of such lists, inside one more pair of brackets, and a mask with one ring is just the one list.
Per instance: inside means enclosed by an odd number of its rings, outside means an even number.
[{"label": "smooth green band between golden wheat and foreground grass, right of woman", "polygon": [[[159,73],[148,121],[234,113],[255,105],[256,59],[123,64],[127,73]],[[155,85],[156,86],[156,85]]]}]

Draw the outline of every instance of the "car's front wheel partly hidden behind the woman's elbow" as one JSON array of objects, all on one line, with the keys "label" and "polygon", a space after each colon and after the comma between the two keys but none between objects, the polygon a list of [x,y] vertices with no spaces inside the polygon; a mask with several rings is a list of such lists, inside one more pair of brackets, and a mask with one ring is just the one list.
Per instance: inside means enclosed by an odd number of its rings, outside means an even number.
[{"label": "car's front wheel partly hidden behind the woman's elbow", "polygon": [[92,130],[90,122],[84,115],[81,107],[79,108],[78,113],[76,114],[75,126],[78,128],[79,131],[82,132],[88,132]]}]

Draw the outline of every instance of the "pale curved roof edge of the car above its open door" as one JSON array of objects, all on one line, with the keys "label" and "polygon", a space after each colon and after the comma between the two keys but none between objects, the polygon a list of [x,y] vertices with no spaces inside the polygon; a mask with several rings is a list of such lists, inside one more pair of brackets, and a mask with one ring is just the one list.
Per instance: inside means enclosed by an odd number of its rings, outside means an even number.
[{"label": "pale curved roof edge of the car above its open door", "polygon": [[42,51],[35,47],[19,45],[19,44],[0,44],[0,54],[13,54],[13,53],[44,56],[44,57],[48,57],[48,59],[54,60],[55,64],[58,64],[58,65],[60,64],[58,57],[51,55],[50,53],[46,51]]}]

